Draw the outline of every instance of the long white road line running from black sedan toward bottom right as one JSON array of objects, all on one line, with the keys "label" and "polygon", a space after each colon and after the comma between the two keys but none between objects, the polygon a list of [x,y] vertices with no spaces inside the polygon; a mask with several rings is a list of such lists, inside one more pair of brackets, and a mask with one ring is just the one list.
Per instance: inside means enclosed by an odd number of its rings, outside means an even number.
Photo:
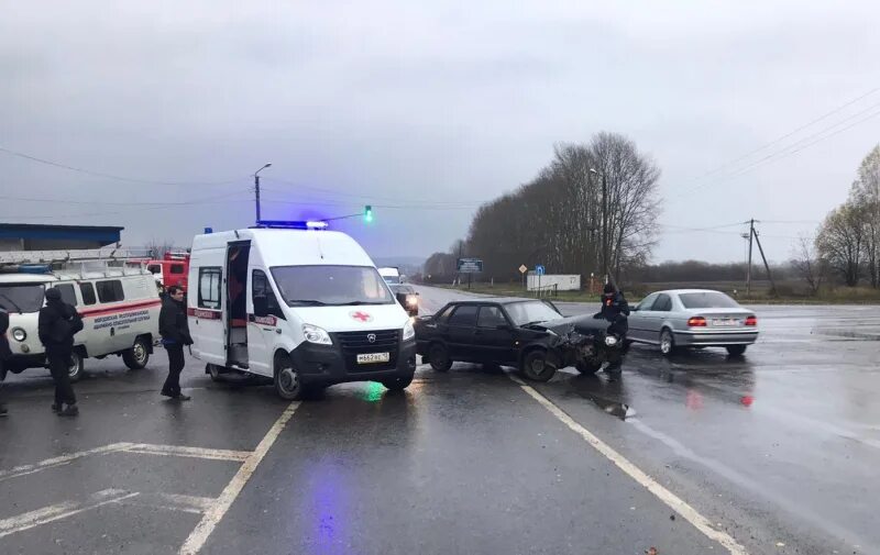
[{"label": "long white road line running from black sedan toward bottom right", "polygon": [[712,522],[700,514],[696,509],[688,504],[675,493],[661,486],[657,480],[630,463],[629,459],[617,453],[610,445],[593,435],[588,430],[575,422],[574,419],[566,414],[562,409],[553,404],[553,402],[548,398],[539,393],[531,386],[526,385],[516,376],[510,376],[510,379],[518,384],[519,387],[522,388],[522,390],[531,398],[541,403],[541,406],[550,411],[550,413],[552,413],[559,421],[569,426],[574,433],[583,437],[586,443],[592,445],[593,448],[598,451],[605,458],[614,463],[630,478],[653,493],[654,497],[660,499],[660,501],[666,503],[670,509],[681,514],[684,520],[693,524],[694,528],[702,532],[706,537],[718,542],[728,552],[730,552],[732,555],[748,555],[746,548],[739,545],[739,543],[737,543],[733,536],[726,532],[715,530],[715,528],[712,525]]}]

